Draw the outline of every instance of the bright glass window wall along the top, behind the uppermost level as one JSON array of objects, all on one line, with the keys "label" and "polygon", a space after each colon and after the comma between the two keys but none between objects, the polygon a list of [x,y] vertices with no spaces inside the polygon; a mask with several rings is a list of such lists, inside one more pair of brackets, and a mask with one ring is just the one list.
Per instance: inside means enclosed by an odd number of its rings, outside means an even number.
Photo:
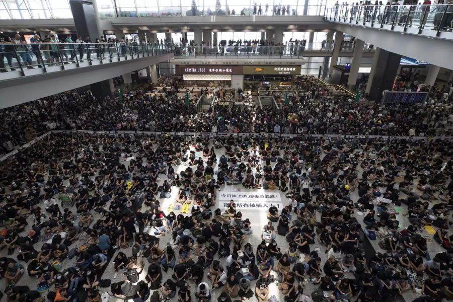
[{"label": "bright glass window wall along the top, behind the uppermost level", "polygon": [[[175,16],[304,16],[324,14],[323,0],[97,0],[101,18]],[[334,0],[327,0],[333,5]],[[0,0],[1,19],[72,18],[68,0]]]}]

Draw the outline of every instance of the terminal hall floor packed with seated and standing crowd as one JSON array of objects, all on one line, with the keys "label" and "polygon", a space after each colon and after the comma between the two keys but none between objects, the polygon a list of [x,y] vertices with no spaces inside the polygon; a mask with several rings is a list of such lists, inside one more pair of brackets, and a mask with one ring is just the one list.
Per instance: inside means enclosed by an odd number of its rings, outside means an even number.
[{"label": "terminal hall floor packed with seated and standing crowd", "polygon": [[[449,102],[433,90],[440,109],[417,115],[426,104],[386,111],[315,77],[294,83],[286,109],[164,77],[121,101],[71,91],[3,110],[40,116],[3,136],[30,142],[2,158],[3,298],[450,299],[451,140],[415,136],[449,135]],[[197,113],[203,97],[215,101]],[[349,106],[368,112],[367,136]]]}]

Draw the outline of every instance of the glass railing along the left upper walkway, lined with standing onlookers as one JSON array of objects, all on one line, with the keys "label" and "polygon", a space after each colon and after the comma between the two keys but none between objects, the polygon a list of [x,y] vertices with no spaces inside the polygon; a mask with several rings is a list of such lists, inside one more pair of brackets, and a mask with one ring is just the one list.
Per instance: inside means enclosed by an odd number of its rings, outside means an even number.
[{"label": "glass railing along the left upper walkway, lined with standing onlookers", "polygon": [[0,43],[0,81],[173,51],[171,43]]}]

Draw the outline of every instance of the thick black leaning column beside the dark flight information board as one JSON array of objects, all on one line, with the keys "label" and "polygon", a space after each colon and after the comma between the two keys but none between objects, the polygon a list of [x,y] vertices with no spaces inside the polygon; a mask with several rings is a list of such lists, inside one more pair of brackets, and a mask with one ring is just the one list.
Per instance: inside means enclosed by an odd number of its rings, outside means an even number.
[{"label": "thick black leaning column beside the dark flight information board", "polygon": [[379,47],[376,48],[371,63],[368,83],[365,88],[365,93],[368,94],[369,99],[380,101],[384,90],[392,90],[400,60],[400,54]]}]

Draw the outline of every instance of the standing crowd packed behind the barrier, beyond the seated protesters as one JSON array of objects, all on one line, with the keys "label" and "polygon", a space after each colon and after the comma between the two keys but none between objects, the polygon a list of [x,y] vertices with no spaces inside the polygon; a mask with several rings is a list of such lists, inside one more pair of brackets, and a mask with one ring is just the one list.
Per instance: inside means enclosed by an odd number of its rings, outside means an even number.
[{"label": "standing crowd packed behind the barrier, beyond the seated protesters", "polygon": [[[356,104],[344,94],[333,95],[312,76],[297,78],[295,86],[306,91],[293,96],[281,109],[224,106],[197,113],[177,97],[184,84],[177,78],[162,79],[165,97],[152,97],[152,85],[140,86],[122,101],[96,98],[68,91],[0,111],[3,153],[52,129],[138,130],[183,132],[275,132],[308,134],[449,136],[453,113],[445,87],[432,87],[425,104],[380,107]],[[167,90],[167,88],[169,88]],[[201,94],[221,89],[201,88]],[[241,92],[242,97],[247,93]],[[221,107],[221,106],[218,106]]]}]

